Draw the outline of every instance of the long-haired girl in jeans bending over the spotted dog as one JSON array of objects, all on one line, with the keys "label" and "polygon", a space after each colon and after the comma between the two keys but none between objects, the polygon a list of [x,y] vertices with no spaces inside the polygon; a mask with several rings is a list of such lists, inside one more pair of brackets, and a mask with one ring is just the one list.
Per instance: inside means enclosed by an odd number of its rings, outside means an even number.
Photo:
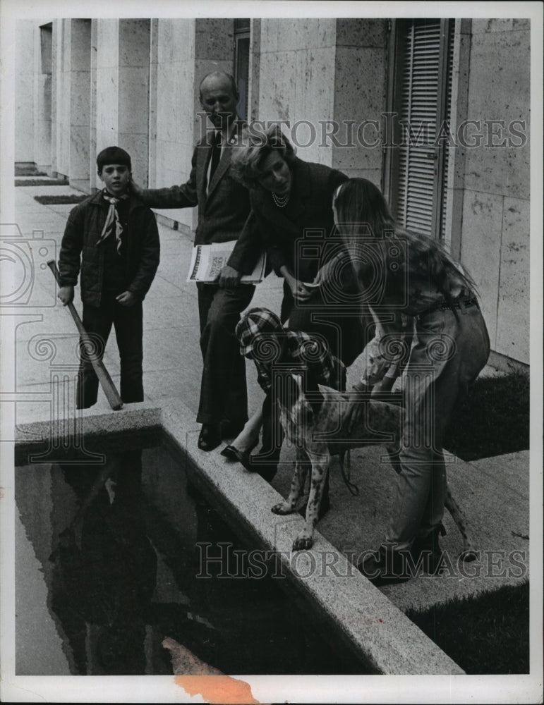
[{"label": "long-haired girl in jeans bending over the spotted dog", "polygon": [[[469,274],[439,243],[399,228],[373,183],[341,184],[333,210],[362,301],[376,321],[356,389],[387,391],[404,367],[405,420],[392,455],[397,493],[386,540],[358,566],[376,584],[397,582],[411,577],[422,555],[429,572],[440,570],[447,492],[442,444],[455,405],[488,360],[488,331]],[[349,427],[363,407],[354,395]]]}]

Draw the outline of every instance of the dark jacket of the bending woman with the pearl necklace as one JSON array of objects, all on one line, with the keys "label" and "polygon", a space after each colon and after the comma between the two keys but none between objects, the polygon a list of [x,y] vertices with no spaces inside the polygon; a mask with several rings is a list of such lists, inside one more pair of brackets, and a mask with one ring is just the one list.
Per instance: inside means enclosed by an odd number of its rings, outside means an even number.
[{"label": "dark jacket of the bending woman with the pearl necklace", "polygon": [[[286,265],[297,278],[312,281],[334,250],[330,241],[334,231],[332,197],[348,177],[329,166],[298,158],[291,164],[291,175],[291,194],[284,209],[274,204],[267,190],[250,191],[251,216],[229,259],[243,274],[253,270],[265,249],[276,274]],[[310,247],[301,250],[297,240],[300,243],[302,238]]]}]

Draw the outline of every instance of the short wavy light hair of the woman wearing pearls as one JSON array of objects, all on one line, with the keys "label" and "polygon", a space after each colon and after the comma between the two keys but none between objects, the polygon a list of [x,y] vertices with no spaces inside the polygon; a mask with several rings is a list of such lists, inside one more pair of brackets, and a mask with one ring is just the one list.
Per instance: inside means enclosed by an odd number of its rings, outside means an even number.
[{"label": "short wavy light hair of the woman wearing pearls", "polygon": [[257,188],[262,176],[262,161],[271,152],[278,152],[287,164],[292,164],[295,159],[295,149],[279,125],[273,123],[264,131],[257,130],[256,126],[244,130],[232,150],[231,176],[246,188]]}]

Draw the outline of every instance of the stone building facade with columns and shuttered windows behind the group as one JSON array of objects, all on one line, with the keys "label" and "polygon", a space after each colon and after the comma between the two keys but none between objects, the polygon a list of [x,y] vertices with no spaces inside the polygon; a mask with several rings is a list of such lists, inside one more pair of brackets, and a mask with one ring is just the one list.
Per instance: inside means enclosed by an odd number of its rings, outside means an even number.
[{"label": "stone building facade with columns and shuttered windows behind the group", "polygon": [[[135,180],[183,183],[205,129],[198,85],[236,75],[248,120],[369,178],[397,219],[478,283],[491,362],[529,362],[530,20],[21,20],[16,161],[99,187],[107,145]],[[191,210],[164,211],[191,231]]]}]

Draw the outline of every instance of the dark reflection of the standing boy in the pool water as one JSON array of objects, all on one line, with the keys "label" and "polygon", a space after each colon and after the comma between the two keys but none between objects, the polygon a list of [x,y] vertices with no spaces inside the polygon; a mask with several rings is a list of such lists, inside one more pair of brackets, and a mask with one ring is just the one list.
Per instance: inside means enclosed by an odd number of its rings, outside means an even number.
[{"label": "dark reflection of the standing boy in the pool water", "polygon": [[145,673],[145,625],[157,580],[157,554],[142,511],[142,451],[109,455],[99,470],[62,465],[78,498],[59,533],[52,608],[80,673]]}]

